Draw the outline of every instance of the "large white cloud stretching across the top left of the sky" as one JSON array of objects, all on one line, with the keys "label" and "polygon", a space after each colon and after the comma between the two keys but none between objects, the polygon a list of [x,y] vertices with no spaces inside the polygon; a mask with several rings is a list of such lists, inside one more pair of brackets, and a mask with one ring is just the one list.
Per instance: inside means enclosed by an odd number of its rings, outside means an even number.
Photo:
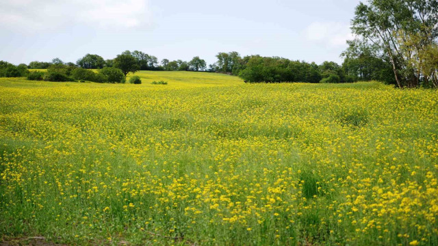
[{"label": "large white cloud stretching across the top left of the sky", "polygon": [[0,26],[56,30],[69,25],[141,27],[151,23],[148,0],[2,0]]}]

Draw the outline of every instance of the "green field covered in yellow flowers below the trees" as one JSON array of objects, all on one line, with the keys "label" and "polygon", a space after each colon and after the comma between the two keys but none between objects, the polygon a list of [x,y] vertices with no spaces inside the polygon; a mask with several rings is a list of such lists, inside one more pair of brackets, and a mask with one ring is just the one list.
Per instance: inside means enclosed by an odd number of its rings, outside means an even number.
[{"label": "green field covered in yellow flowers below the trees", "polygon": [[438,245],[436,90],[138,74],[0,79],[0,244]]}]

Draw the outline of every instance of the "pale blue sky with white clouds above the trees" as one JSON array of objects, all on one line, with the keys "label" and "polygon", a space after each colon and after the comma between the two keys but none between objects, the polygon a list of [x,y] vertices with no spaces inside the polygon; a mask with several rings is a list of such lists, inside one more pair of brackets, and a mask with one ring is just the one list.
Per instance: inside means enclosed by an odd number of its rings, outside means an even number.
[{"label": "pale blue sky with white clouds above the trees", "polygon": [[219,52],[336,61],[359,0],[1,0],[0,60],[76,62],[142,51],[161,61]]}]

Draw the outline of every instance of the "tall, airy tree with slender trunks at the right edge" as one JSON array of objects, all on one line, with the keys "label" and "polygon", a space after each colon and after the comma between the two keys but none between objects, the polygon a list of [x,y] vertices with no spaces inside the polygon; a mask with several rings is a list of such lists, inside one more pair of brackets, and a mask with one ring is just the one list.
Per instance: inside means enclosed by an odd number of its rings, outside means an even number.
[{"label": "tall, airy tree with slender trunks at the right edge", "polygon": [[[352,19],[356,40],[345,55],[370,51],[390,64],[398,87],[416,87],[424,80],[420,54],[438,37],[437,0],[368,0],[359,3]],[[417,40],[411,44],[407,41]]]}]

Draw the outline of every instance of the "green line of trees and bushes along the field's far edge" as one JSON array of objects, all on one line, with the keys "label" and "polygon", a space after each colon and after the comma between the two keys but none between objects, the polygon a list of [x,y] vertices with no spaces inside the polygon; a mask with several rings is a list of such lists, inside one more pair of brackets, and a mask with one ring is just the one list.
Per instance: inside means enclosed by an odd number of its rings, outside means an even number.
[{"label": "green line of trees and bushes along the field's far edge", "polygon": [[242,57],[232,51],[218,53],[216,62],[207,67],[198,56],[190,61],[162,59],[159,62],[157,57],[142,51],[124,51],[106,60],[86,54],[76,63],[55,58],[51,62],[31,61],[29,65],[14,66],[1,61],[0,77],[23,76],[27,68],[64,66],[117,68],[125,77],[138,70],[207,71],[237,75],[251,83],[376,80],[398,87],[438,87],[438,0],[368,0],[357,5],[351,29],[355,39],[347,41],[341,65],[333,61],[315,64],[260,55]]}]

